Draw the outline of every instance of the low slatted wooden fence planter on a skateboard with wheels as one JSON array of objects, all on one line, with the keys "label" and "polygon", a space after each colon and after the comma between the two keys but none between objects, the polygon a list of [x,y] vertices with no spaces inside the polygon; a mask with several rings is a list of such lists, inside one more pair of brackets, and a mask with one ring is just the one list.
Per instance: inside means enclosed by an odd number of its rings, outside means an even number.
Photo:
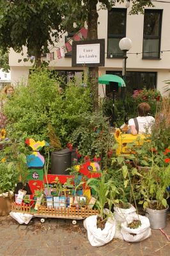
[{"label": "low slatted wooden fence planter on a skateboard with wheels", "polygon": [[83,220],[91,215],[97,215],[96,209],[77,209],[77,208],[65,208],[65,207],[38,207],[38,211],[31,208],[30,205],[18,205],[15,202],[12,204],[13,212],[22,212],[33,214],[33,216],[40,218],[40,221],[44,223],[46,218],[62,218],[72,220],[73,225],[77,223],[77,220]]}]

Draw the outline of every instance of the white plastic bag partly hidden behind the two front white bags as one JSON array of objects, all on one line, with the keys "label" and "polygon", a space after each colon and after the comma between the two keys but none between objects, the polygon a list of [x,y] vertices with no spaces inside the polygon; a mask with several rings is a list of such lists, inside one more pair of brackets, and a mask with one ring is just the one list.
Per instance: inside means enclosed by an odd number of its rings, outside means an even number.
[{"label": "white plastic bag partly hidden behind the two front white bags", "polygon": [[132,204],[128,205],[129,208],[127,209],[123,209],[116,206],[114,207],[114,218],[118,223],[120,223],[120,225],[127,219],[127,216],[134,215],[136,212],[136,209]]}]

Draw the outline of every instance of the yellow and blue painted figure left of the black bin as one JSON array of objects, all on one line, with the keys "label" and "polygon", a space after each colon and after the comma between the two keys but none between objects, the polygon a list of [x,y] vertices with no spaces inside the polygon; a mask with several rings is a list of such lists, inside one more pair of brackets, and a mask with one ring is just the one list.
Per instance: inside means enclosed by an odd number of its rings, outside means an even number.
[{"label": "yellow and blue painted figure left of the black bin", "polygon": [[40,154],[44,146],[49,146],[45,140],[35,141],[33,139],[26,139],[25,143],[33,149],[33,154],[27,156],[27,166],[28,168],[42,168],[45,163],[44,157]]}]

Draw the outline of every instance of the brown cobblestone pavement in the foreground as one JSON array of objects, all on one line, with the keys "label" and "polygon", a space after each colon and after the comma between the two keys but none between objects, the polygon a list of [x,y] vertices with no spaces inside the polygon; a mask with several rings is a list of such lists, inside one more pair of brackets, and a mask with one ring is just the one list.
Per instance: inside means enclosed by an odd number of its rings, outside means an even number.
[{"label": "brown cobblestone pavement in the foreground", "polygon": [[[170,235],[170,214],[167,227]],[[34,218],[29,225],[19,225],[10,216],[0,217],[0,256],[169,256],[170,242],[159,230],[140,243],[113,239],[101,247],[88,242],[82,221],[73,226],[71,220]]]}]

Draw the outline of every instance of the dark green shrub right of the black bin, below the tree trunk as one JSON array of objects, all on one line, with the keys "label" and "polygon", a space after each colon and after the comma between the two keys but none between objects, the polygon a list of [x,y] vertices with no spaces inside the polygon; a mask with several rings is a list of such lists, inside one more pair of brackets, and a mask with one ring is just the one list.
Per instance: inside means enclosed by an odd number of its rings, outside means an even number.
[{"label": "dark green shrub right of the black bin, below the tree trunk", "polygon": [[98,113],[84,113],[79,116],[79,124],[72,132],[71,142],[77,147],[82,157],[89,159],[100,157],[102,163],[107,163],[107,154],[112,147],[107,118]]}]

